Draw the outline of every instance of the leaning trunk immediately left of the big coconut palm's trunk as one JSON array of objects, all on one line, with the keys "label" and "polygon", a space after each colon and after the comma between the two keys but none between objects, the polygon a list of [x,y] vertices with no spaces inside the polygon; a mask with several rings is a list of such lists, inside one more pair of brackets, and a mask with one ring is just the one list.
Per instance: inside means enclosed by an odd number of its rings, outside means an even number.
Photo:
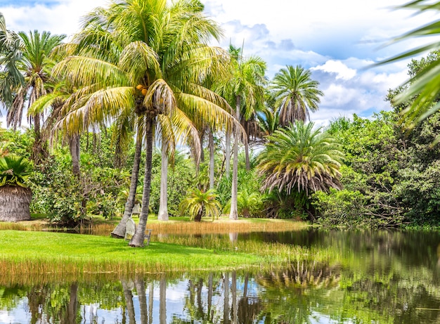
[{"label": "leaning trunk immediately left of the big coconut palm's trunk", "polygon": [[125,237],[125,224],[127,223],[127,219],[129,219],[131,216],[134,202],[136,200],[136,188],[138,186],[138,177],[139,177],[139,164],[141,164],[141,148],[142,148],[142,139],[141,136],[138,135],[136,136],[136,148],[134,151],[133,170],[131,171],[129,197],[127,197],[127,202],[125,203],[124,215],[122,216],[121,221],[119,221],[116,228],[110,234],[112,235],[113,238]]}]

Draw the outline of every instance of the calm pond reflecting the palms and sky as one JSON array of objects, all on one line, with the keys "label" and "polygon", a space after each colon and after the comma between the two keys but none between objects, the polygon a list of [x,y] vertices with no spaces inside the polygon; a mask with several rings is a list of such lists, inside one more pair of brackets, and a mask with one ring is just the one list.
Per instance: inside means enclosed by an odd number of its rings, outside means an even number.
[{"label": "calm pond reflecting the palms and sky", "polygon": [[0,323],[440,323],[440,233],[229,235],[330,249],[283,271],[0,278]]}]

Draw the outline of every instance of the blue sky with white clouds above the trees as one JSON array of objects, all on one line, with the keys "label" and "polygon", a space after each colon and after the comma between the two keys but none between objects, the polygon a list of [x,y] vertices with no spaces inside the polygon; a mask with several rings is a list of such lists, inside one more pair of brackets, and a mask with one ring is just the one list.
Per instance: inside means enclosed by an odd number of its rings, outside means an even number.
[{"label": "blue sky with white clouds above the trees", "polygon": [[[396,36],[439,19],[434,13],[414,15],[396,10],[406,0],[202,0],[205,12],[224,29],[220,45],[244,45],[245,55],[266,60],[267,76],[285,65],[313,71],[325,96],[317,124],[356,113],[370,117],[388,110],[388,89],[406,80],[401,61],[366,68],[426,40],[383,46]],[[106,0],[0,0],[8,29],[47,30],[52,34],[77,32],[81,16]]]}]

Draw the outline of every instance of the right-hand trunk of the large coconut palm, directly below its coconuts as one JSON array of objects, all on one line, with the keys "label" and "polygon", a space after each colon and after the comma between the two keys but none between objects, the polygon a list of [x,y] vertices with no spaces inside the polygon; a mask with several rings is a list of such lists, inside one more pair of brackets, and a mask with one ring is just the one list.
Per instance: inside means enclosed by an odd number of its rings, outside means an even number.
[{"label": "right-hand trunk of the large coconut palm, directly below its coconuts", "polygon": [[131,247],[143,247],[143,240],[145,239],[145,228],[148,220],[148,207],[150,205],[150,191],[151,191],[151,167],[153,158],[153,119],[148,119],[146,127],[146,149],[145,149],[145,174],[143,178],[143,193],[142,193],[142,209],[139,215],[139,224],[136,227],[133,238],[131,238],[129,245]]}]

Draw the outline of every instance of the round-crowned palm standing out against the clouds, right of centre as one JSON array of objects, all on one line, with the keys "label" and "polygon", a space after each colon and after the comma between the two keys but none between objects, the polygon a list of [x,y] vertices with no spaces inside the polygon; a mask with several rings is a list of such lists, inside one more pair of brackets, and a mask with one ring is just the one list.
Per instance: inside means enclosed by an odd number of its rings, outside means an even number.
[{"label": "round-crowned palm standing out against the clouds, right of centre", "polygon": [[311,79],[310,70],[304,70],[301,66],[287,65],[275,74],[270,89],[276,100],[280,126],[286,127],[295,120],[306,122],[310,119],[309,110],[318,110],[319,96],[323,96],[318,86],[319,82]]}]

